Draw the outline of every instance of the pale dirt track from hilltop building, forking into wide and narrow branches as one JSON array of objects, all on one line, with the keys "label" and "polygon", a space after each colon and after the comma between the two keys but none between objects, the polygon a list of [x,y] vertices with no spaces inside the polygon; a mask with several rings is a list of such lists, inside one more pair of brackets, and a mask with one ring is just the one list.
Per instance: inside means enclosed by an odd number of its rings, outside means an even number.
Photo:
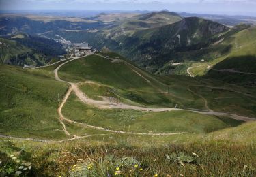
[{"label": "pale dirt track from hilltop building, forking into wide and narrow branches", "polygon": [[[57,67],[54,70],[54,74],[55,74],[55,79],[59,82],[65,82],[67,84],[70,84],[70,88],[68,89],[68,92],[66,93],[65,97],[63,98],[61,105],[58,108],[58,113],[59,113],[59,118],[60,118],[60,122],[63,125],[63,130],[67,135],[70,135],[70,133],[68,133],[68,131],[66,130],[65,124],[63,123],[63,120],[65,120],[68,123],[74,123],[77,125],[82,125],[85,127],[90,127],[92,129],[98,129],[101,131],[109,131],[111,133],[122,133],[122,134],[134,134],[134,135],[178,135],[178,134],[188,134],[188,132],[180,132],[180,133],[135,133],[135,132],[125,132],[125,131],[115,131],[115,130],[110,130],[110,129],[104,129],[103,127],[97,127],[97,126],[93,126],[93,125],[87,125],[86,123],[79,123],[76,122],[74,120],[70,120],[68,118],[66,118],[65,116],[63,116],[61,110],[64,106],[64,104],[66,103],[68,97],[70,96],[70,93],[72,91],[74,91],[74,93],[76,94],[76,96],[83,102],[92,106],[96,106],[98,108],[101,109],[111,109],[111,108],[118,108],[118,109],[131,109],[131,110],[141,110],[141,111],[152,111],[152,112],[165,112],[165,111],[172,111],[172,110],[185,110],[185,109],[178,109],[178,108],[145,108],[145,107],[140,107],[140,106],[131,106],[131,105],[127,105],[124,103],[111,103],[109,101],[96,101],[94,99],[90,99],[89,97],[87,97],[87,95],[85,95],[83,93],[83,91],[81,91],[79,89],[79,86],[77,83],[73,83],[73,82],[67,82],[65,80],[61,80],[61,78],[59,78],[58,75],[58,71],[59,69],[63,66],[66,65],[66,63],[69,63],[70,61],[74,61],[76,59],[80,59],[82,57],[75,57],[74,59],[71,59],[69,61],[66,61],[65,63],[61,63],[61,65],[59,65],[59,67]],[[139,76],[141,76],[141,74],[139,74],[137,71],[135,71]],[[144,78],[144,77],[143,77]],[[147,82],[150,82],[149,80],[147,80],[146,78],[144,78]],[[199,97],[203,98],[201,95],[198,95]],[[210,110],[210,108],[208,108],[207,106],[207,100],[205,98],[203,98],[205,101],[205,107],[207,108],[208,111],[198,111],[198,110],[186,110],[186,111],[191,111],[191,112],[197,112],[199,114],[205,114],[205,115],[216,115],[216,116],[229,116],[233,119],[236,120],[243,120],[243,121],[252,121],[255,120],[255,118],[249,118],[246,116],[238,116],[236,114],[229,114],[229,113],[223,113],[223,112],[214,112],[213,110]],[[74,135],[73,135],[74,136]]]}]

